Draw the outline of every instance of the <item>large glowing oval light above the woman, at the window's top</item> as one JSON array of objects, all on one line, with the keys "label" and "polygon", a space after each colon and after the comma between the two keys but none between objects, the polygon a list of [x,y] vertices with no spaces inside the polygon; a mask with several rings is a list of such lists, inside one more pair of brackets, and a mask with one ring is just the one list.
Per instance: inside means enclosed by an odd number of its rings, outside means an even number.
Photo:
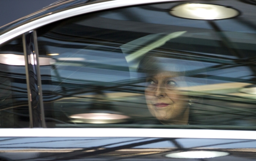
[{"label": "large glowing oval light above the woman, at the window's top", "polygon": [[173,7],[170,14],[193,20],[222,20],[238,16],[239,11],[226,6],[186,3]]}]

